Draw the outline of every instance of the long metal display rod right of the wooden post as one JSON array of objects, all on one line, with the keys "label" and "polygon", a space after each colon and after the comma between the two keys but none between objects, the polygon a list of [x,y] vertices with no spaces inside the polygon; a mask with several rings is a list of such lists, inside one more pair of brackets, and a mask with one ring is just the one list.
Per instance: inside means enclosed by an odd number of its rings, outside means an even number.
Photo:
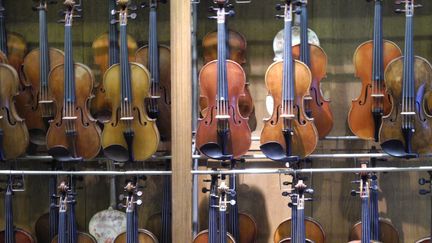
[{"label": "long metal display rod right of the wooden post", "polygon": [[432,171],[432,166],[375,167],[375,168],[308,168],[308,169],[244,169],[244,170],[192,170],[196,175],[231,174],[296,174],[296,173],[360,173],[360,172],[421,172]]}]

